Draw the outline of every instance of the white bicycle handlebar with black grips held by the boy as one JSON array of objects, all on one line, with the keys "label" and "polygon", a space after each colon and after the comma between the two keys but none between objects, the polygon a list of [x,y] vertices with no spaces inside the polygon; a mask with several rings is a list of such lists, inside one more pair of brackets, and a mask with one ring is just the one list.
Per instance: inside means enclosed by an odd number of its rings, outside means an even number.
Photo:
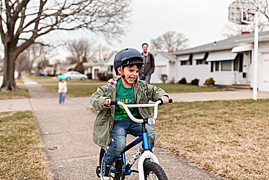
[{"label": "white bicycle handlebar with black grips held by the boy", "polygon": [[[169,99],[168,103],[172,103],[173,100]],[[128,107],[152,107],[154,106],[154,119],[157,119],[157,115],[158,115],[158,105],[162,105],[162,99],[158,99],[158,101],[156,101],[155,103],[150,103],[150,104],[124,104],[123,102],[120,101],[111,101],[110,105],[121,105],[124,110],[126,111],[126,113],[128,114],[128,116],[130,117],[131,120],[133,120],[134,122],[139,122],[142,123],[143,119],[137,119],[135,117],[133,117],[133,115],[131,114],[130,110],[128,109]]]}]

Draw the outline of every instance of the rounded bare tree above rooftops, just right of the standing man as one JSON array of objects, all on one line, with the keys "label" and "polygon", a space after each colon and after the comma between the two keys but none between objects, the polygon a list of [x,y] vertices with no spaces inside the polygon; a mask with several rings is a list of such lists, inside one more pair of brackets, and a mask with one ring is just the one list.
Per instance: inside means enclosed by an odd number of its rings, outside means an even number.
[{"label": "rounded bare tree above rooftops, just right of the standing man", "polygon": [[157,39],[152,39],[150,48],[163,52],[174,52],[186,48],[187,42],[188,39],[184,34],[168,31]]}]

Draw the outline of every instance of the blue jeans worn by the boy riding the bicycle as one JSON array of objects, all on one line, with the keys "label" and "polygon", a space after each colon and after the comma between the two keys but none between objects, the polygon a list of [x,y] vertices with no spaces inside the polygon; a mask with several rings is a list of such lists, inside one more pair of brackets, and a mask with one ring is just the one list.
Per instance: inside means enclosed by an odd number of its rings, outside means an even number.
[{"label": "blue jeans worn by the boy riding the bicycle", "polygon": [[[146,124],[148,145],[152,150],[154,147],[155,130]],[[121,155],[126,147],[127,130],[135,137],[142,136],[142,124],[131,119],[114,121],[112,128],[112,139],[114,140],[103,157],[104,163],[111,165]]]}]

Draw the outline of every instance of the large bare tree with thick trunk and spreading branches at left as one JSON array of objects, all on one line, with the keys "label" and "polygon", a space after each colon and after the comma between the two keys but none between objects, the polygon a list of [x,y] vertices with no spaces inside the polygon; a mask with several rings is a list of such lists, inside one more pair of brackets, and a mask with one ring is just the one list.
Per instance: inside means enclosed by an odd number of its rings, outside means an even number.
[{"label": "large bare tree with thick trunk and spreading branches at left", "polygon": [[126,29],[129,4],[128,0],[1,0],[0,35],[5,48],[1,91],[17,89],[15,60],[37,38],[79,28],[102,33],[107,40],[119,38]]}]

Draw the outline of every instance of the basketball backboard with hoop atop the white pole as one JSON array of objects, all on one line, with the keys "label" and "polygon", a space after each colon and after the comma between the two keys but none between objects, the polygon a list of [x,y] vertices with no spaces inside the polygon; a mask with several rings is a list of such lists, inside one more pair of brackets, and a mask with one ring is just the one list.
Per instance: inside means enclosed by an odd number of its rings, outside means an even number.
[{"label": "basketball backboard with hoop atop the white pole", "polygon": [[249,24],[246,22],[254,22],[256,10],[257,7],[252,2],[237,0],[229,6],[229,21],[237,24]]}]

